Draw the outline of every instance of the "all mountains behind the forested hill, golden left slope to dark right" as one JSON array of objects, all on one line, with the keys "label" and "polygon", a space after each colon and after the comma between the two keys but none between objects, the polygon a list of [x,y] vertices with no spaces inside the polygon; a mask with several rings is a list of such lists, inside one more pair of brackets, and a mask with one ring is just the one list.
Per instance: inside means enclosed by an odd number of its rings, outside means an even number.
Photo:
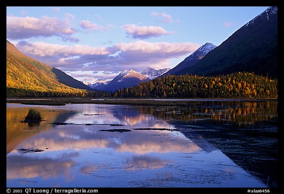
[{"label": "all mountains behind the forested hill, golden left slope to dark right", "polygon": [[7,88],[49,92],[70,92],[79,88],[113,92],[167,75],[215,76],[244,71],[277,78],[277,7],[267,8],[219,46],[212,43],[202,45],[173,69],[147,68],[141,73],[124,70],[112,80],[98,79],[93,84],[84,84],[59,69],[26,56],[6,40]]}]

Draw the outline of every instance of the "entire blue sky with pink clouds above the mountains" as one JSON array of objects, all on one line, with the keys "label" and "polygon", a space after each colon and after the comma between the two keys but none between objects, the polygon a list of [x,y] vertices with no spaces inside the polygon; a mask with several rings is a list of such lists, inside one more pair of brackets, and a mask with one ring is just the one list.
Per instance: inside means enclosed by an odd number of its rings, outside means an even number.
[{"label": "entire blue sky with pink clouds above the mountains", "polygon": [[80,81],[122,70],[173,68],[216,46],[268,7],[6,7],[6,38]]}]

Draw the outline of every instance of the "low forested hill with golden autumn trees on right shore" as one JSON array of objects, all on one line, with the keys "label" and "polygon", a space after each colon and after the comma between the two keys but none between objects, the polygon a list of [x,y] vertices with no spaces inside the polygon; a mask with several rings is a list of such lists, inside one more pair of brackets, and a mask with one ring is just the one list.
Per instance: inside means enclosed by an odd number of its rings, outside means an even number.
[{"label": "low forested hill with golden autumn trees on right shore", "polygon": [[278,80],[247,72],[215,77],[169,75],[117,90],[114,97],[277,98]]}]

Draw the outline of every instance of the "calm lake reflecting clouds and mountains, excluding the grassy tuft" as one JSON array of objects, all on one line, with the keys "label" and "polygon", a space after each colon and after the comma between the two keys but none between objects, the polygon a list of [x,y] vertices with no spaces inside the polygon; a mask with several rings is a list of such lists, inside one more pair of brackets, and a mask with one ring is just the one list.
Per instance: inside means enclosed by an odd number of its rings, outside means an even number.
[{"label": "calm lake reflecting clouds and mountains, excluding the grassy tuft", "polygon": [[[30,108],[44,121],[22,123]],[[6,104],[6,186],[278,187],[277,100]]]}]

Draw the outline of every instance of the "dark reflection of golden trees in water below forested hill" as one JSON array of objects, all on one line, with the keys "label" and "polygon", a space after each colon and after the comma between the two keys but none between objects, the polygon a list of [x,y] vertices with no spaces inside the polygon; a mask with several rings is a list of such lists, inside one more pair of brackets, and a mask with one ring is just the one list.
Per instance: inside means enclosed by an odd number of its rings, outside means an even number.
[{"label": "dark reflection of golden trees in water below forested hill", "polygon": [[214,122],[238,126],[277,120],[277,101],[197,101],[187,107],[141,108],[141,112],[187,123]]}]

